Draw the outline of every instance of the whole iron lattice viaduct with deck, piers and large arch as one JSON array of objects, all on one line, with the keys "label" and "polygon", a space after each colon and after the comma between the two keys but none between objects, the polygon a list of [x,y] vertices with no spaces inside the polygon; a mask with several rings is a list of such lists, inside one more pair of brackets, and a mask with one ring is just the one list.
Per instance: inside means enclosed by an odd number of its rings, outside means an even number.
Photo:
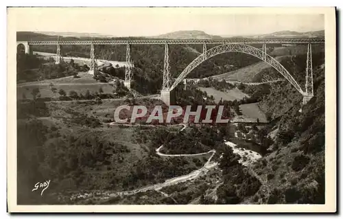
[{"label": "whole iron lattice viaduct with deck, piers and large arch", "polygon": [[[306,84],[305,91],[301,89],[300,85],[292,75],[272,56],[267,54],[267,43],[275,44],[307,44],[307,68],[306,68]],[[61,45],[91,45],[91,65],[90,73],[94,74],[97,70],[97,62],[94,56],[94,45],[126,45],[126,65],[125,65],[125,82],[126,87],[130,89],[130,83],[132,80],[132,61],[130,56],[130,45],[135,44],[163,44],[165,45],[165,61],[163,67],[163,92],[170,92],[182,82],[184,78],[200,63],[205,60],[216,56],[217,54],[223,54],[230,51],[242,52],[255,56],[272,66],[276,71],[281,73],[296,90],[304,96],[303,104],[306,104],[311,97],[314,96],[313,91],[313,75],[312,75],[312,56],[311,56],[311,44],[324,43],[324,38],[226,38],[218,40],[207,40],[207,39],[176,39],[176,40],[165,40],[165,39],[143,39],[143,40],[110,40],[110,41],[28,41],[27,45],[57,45],[56,63],[63,62],[61,55]],[[182,71],[180,76],[176,78],[174,84],[171,85],[170,66],[169,66],[169,45],[170,44],[202,44],[202,54],[193,60],[186,68]],[[217,46],[207,49],[207,44],[217,44]],[[250,45],[249,45],[250,44]],[[252,44],[262,44],[262,49],[253,47]]]}]

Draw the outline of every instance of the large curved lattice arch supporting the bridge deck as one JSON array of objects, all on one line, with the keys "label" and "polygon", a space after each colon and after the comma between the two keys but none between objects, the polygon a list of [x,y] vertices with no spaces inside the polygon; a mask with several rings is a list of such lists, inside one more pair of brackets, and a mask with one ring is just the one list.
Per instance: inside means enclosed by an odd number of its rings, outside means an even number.
[{"label": "large curved lattice arch supporting the bridge deck", "polygon": [[180,83],[186,76],[195,69],[200,63],[204,61],[204,56],[206,56],[207,59],[216,56],[218,54],[223,54],[225,52],[230,51],[238,51],[243,52],[245,54],[250,54],[252,56],[255,56],[261,60],[265,58],[265,62],[267,62],[270,66],[274,67],[276,71],[279,71],[283,77],[285,77],[302,95],[305,95],[305,92],[301,89],[300,85],[294,80],[291,74],[280,64],[280,62],[276,61],[272,56],[269,56],[268,54],[263,53],[261,49],[257,49],[255,47],[252,47],[250,45],[246,44],[224,44],[219,45],[217,47],[213,47],[212,49],[209,49],[206,51],[206,54],[201,54],[198,56],[195,60],[193,60],[186,68],[182,71],[180,76],[176,78],[174,84],[170,87],[169,91],[173,90],[178,83]]}]

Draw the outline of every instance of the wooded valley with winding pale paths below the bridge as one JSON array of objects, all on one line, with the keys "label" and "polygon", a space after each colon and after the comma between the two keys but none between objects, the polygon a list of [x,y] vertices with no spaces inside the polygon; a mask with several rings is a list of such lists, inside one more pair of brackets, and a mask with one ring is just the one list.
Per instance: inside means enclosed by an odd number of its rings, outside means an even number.
[{"label": "wooded valley with winding pale paths below the bridge", "polygon": [[[113,114],[121,105],[143,105],[149,112],[156,105],[167,108],[159,95],[163,47],[142,48],[132,49],[137,60],[132,89],[123,84],[124,64],[118,60],[125,52],[118,45],[99,49],[98,61],[111,65],[102,67],[98,76],[87,73],[81,56],[56,65],[46,58],[51,52],[48,46],[37,46],[39,56],[17,57],[18,180],[23,185],[18,189],[19,203],[324,202],[322,48],[314,49],[314,97],[306,105],[301,104],[302,95],[265,62],[246,54],[223,54],[189,75],[211,79],[181,83],[175,92],[180,106],[224,106],[223,116],[230,118],[227,124],[177,119],[170,124],[117,124]],[[268,49],[304,84],[303,47]],[[65,50],[88,54],[82,46]],[[185,69],[198,56],[196,51],[201,49],[171,48],[171,74]],[[228,63],[234,71],[228,71],[232,69]],[[37,178],[51,179],[44,196],[32,192]]]}]

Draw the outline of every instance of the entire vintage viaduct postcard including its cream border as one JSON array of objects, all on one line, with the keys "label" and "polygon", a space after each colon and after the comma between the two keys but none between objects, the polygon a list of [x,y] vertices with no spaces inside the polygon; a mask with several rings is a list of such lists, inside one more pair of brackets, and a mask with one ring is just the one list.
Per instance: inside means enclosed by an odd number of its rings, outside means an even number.
[{"label": "entire vintage viaduct postcard including its cream border", "polygon": [[336,211],[335,8],[8,25],[10,211]]}]

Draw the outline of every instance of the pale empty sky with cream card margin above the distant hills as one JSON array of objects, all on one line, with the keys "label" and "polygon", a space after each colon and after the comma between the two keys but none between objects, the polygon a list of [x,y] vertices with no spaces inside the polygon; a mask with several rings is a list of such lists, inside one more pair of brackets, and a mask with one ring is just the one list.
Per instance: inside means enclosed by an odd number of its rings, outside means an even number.
[{"label": "pale empty sky with cream card margin above the distant hills", "polygon": [[156,36],[202,30],[220,36],[324,30],[315,10],[259,8],[12,8],[16,31]]}]

